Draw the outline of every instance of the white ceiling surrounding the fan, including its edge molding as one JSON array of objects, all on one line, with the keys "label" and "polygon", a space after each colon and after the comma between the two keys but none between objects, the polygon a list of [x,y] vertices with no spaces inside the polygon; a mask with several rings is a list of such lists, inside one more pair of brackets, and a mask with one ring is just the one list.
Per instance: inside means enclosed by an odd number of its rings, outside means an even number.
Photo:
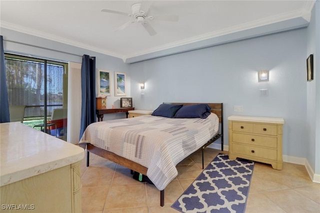
[{"label": "white ceiling surrounding the fan, including its edge molding", "polygon": [[[174,14],[177,22],[151,20],[150,36],[132,17],[135,2],[149,14]],[[1,27],[122,58],[131,63],[176,52],[306,26],[314,0],[1,0]]]}]

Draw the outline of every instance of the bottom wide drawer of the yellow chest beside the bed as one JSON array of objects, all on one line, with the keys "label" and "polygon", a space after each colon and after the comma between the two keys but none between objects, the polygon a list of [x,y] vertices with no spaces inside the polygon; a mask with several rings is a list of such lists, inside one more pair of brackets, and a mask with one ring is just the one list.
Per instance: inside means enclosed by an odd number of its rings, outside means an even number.
[{"label": "bottom wide drawer of the yellow chest beside the bed", "polygon": [[271,149],[232,144],[232,153],[246,155],[250,157],[264,158],[276,161],[276,152],[276,150]]}]

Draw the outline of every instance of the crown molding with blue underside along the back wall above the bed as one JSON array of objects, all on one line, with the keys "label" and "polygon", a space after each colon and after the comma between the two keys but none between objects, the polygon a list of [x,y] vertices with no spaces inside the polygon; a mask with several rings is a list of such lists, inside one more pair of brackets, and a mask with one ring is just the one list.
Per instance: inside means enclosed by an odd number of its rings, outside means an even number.
[{"label": "crown molding with blue underside along the back wall above the bed", "polygon": [[305,9],[298,9],[250,21],[244,24],[157,46],[132,55],[127,55],[124,57],[125,59],[123,61],[125,63],[134,63],[192,49],[214,46],[221,43],[304,27],[308,25],[309,21],[302,16],[303,14],[305,14]]}]

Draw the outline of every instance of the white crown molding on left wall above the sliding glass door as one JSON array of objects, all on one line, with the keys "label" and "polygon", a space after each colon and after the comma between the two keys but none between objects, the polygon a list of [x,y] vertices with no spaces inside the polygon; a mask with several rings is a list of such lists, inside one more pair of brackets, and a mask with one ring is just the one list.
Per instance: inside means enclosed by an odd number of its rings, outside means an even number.
[{"label": "white crown molding on left wall above the sliding glass door", "polygon": [[11,30],[14,30],[14,31],[26,33],[26,34],[29,34],[29,35],[34,35],[34,36],[37,36],[37,37],[41,37],[41,38],[57,41],[57,42],[60,42],[60,43],[76,46],[76,47],[79,47],[79,48],[91,50],[91,51],[94,51],[94,52],[99,52],[99,53],[102,53],[102,54],[106,54],[106,55],[110,55],[110,56],[122,59],[122,56],[120,56],[120,55],[118,55],[118,54],[116,54],[114,52],[105,51],[104,49],[101,49],[101,48],[90,46],[90,45],[87,45],[87,44],[84,44],[84,43],[81,43],[81,42],[77,42],[77,41],[74,41],[74,40],[66,39],[66,38],[63,38],[63,37],[55,36],[55,35],[52,35],[52,34],[49,34],[49,33],[45,33],[45,32],[42,32],[42,31],[30,29],[30,28],[27,28],[27,27],[24,27],[24,26],[21,26],[21,25],[12,24],[12,23],[9,23],[9,22],[6,22],[6,21],[0,21],[0,25],[3,28],[11,29]]}]

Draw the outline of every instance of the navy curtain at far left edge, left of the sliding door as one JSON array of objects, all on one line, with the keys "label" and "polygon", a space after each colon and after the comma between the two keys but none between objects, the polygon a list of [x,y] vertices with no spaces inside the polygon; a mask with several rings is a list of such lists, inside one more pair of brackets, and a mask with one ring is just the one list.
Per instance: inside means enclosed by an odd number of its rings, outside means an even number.
[{"label": "navy curtain at far left edge, left of the sliding door", "polygon": [[0,123],[10,122],[9,99],[6,89],[6,76],[4,65],[3,36],[0,35]]}]

